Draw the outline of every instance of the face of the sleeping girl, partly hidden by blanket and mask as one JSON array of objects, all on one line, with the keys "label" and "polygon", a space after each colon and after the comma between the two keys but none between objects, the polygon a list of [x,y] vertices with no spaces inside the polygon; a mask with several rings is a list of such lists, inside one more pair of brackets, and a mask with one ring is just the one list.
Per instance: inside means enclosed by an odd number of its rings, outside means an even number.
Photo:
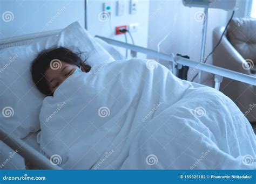
[{"label": "face of the sleeping girl, partly hidden by blanket and mask", "polygon": [[[75,70],[78,68],[76,65],[72,65],[66,62],[61,62],[62,65],[60,68],[51,68],[49,67],[45,72],[46,80],[48,81],[49,88],[52,92],[58,88],[58,86],[65,81],[70,75],[75,72]],[[84,72],[84,69],[81,68],[81,70]]]}]

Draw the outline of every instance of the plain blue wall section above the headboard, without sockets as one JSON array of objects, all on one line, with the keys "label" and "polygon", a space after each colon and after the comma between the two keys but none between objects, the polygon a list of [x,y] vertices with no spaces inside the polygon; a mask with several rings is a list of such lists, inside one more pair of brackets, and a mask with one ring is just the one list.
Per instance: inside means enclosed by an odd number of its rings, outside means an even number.
[{"label": "plain blue wall section above the headboard, without sockets", "polygon": [[[84,26],[84,8],[84,0],[0,0],[0,39],[63,29],[77,20]],[[13,13],[12,21],[3,21],[2,15],[5,11]]]}]

